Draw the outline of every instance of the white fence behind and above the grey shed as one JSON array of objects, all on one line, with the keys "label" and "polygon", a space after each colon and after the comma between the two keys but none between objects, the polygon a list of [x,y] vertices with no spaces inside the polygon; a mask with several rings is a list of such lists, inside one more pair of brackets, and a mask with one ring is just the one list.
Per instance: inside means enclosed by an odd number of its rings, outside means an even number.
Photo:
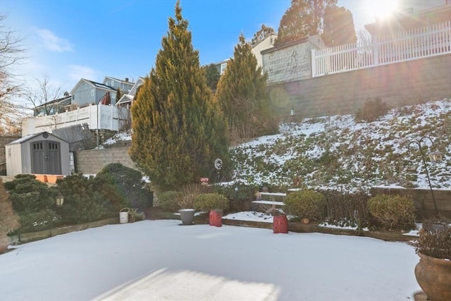
[{"label": "white fence behind and above the grey shed", "polygon": [[129,114],[128,109],[103,104],[89,105],[81,109],[66,111],[49,116],[27,118],[22,126],[22,136],[47,131],[51,133],[56,128],[87,123],[89,130],[121,130],[123,118]]}]

